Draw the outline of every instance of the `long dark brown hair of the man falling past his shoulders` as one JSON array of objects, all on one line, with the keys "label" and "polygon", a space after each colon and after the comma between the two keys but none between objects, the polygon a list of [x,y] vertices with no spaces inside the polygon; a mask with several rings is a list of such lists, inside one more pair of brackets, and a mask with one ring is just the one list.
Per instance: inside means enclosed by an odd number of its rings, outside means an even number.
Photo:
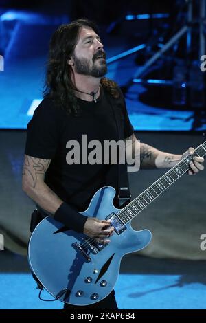
[{"label": "long dark brown hair of the man falling past his shoulders", "polygon": [[[81,111],[73,91],[76,88],[71,79],[73,70],[67,62],[78,42],[80,27],[84,26],[91,27],[98,34],[95,23],[87,19],[78,19],[69,24],[60,25],[54,32],[49,44],[49,60],[43,91],[44,98],[49,96],[57,107],[62,107],[67,114],[72,113],[76,116],[81,115]],[[102,78],[100,82],[114,98],[119,96],[115,82],[108,78]]]}]

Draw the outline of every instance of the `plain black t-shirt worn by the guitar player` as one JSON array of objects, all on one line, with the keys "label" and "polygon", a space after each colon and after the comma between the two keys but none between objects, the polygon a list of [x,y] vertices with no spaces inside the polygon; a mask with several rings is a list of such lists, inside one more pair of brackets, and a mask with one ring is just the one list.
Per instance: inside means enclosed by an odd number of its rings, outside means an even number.
[{"label": "plain black t-shirt worn by the guitar player", "polygon": [[[52,159],[45,175],[45,183],[56,192],[58,197],[83,212],[89,205],[93,194],[102,186],[113,186],[117,190],[117,165],[81,164],[82,135],[87,135],[87,142],[99,140],[118,140],[117,124],[113,108],[108,100],[109,94],[100,88],[97,102],[78,99],[82,115],[67,115],[63,109],[54,106],[47,97],[34,111],[32,120],[27,124],[27,142],[25,154]],[[115,99],[112,99],[115,100]],[[133,134],[133,126],[128,119],[124,98],[118,103],[118,113],[124,126],[124,137]],[[116,104],[115,104],[116,105]],[[121,111],[122,110],[122,111]],[[77,140],[80,144],[80,164],[69,165],[66,160],[69,140]],[[84,147],[85,148],[85,147]],[[93,149],[88,148],[88,153]]]}]

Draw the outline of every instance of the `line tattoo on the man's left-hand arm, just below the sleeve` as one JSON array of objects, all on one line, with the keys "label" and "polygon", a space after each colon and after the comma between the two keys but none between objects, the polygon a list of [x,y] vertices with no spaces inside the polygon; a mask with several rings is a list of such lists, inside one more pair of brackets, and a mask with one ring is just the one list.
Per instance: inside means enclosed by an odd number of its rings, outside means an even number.
[{"label": "line tattoo on the man's left-hand arm, just below the sleeve", "polygon": [[23,176],[27,177],[27,181],[32,184],[32,187],[36,187],[38,177],[44,180],[45,172],[49,168],[51,159],[41,159],[25,155],[23,164]]}]

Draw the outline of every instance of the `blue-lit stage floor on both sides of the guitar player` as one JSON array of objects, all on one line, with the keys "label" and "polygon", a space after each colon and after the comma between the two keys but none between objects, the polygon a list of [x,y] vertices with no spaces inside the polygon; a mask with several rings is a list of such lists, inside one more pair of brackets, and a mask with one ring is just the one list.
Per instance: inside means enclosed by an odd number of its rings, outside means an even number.
[{"label": "blue-lit stage floor on both sides of the guitar player", "polygon": [[[0,309],[62,309],[38,299],[27,258],[1,252]],[[205,261],[159,260],[127,255],[115,285],[119,309],[206,309]],[[43,291],[43,298],[51,296]]]}]

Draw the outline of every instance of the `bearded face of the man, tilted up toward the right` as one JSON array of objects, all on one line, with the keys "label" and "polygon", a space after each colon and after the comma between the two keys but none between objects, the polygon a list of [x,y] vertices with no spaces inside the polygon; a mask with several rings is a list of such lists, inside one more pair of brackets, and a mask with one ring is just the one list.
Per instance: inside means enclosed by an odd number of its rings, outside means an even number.
[{"label": "bearded face of the man, tilted up toward the right", "polygon": [[107,72],[106,53],[100,37],[90,27],[81,27],[73,53],[74,71],[78,74],[101,78]]}]

